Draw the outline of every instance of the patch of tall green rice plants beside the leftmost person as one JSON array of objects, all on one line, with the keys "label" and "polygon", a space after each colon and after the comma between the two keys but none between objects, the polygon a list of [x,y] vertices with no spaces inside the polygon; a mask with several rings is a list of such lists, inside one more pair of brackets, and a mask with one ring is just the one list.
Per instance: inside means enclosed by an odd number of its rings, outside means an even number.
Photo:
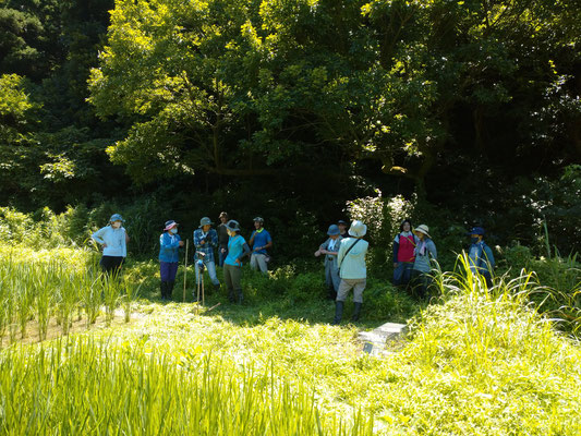
[{"label": "patch of tall green rice plants beside the leftmost person", "polygon": [[124,283],[102,277],[89,252],[70,249],[32,252],[0,246],[0,334],[3,338],[8,330],[10,342],[16,340],[17,330],[24,338],[34,319],[38,337],[44,340],[50,320],[56,319],[66,335],[75,314],[80,320],[85,313],[88,328],[102,304],[110,324],[124,289],[132,291],[125,303],[129,311],[135,287],[126,280]]}]

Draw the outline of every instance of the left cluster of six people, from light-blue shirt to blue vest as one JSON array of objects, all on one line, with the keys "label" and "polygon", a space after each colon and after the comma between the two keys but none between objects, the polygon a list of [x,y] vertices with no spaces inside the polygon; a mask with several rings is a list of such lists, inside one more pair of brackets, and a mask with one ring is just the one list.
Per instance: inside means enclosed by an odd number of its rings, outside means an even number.
[{"label": "left cluster of six people, from light-blue shirt to blue vest", "polygon": [[[273,238],[264,228],[262,217],[254,218],[254,231],[249,242],[240,234],[240,223],[237,220],[229,219],[225,211],[220,214],[219,219],[220,225],[217,229],[213,229],[211,220],[203,217],[199,220],[199,227],[194,231],[196,288],[203,281],[204,270],[208,271],[215,289],[220,288],[220,281],[216,275],[215,250],[217,250],[218,266],[223,268],[228,298],[232,302],[242,303],[242,261],[250,256],[250,265],[253,269],[259,269],[263,274],[268,272],[270,261],[268,250],[273,246]],[[113,214],[109,219],[109,225],[93,234],[93,239],[102,246],[100,266],[105,274],[118,274],[126,256],[129,235],[123,222],[121,215]],[[162,300],[171,300],[178,274],[179,252],[184,246],[184,241],[178,233],[178,227],[179,223],[174,220],[166,221],[164,232],[159,237],[158,258]]]}]

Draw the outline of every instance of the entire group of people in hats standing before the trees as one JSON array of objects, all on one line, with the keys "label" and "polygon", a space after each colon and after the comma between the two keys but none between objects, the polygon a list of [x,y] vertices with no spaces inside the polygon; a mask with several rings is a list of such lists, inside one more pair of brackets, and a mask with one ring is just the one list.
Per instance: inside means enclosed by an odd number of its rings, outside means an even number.
[{"label": "entire group of people in hats standing before the trees", "polygon": [[[204,270],[207,270],[214,287],[220,288],[216,275],[215,250],[217,250],[218,266],[223,268],[228,299],[240,304],[244,298],[241,284],[242,263],[246,256],[250,256],[251,267],[266,274],[273,238],[264,228],[262,217],[254,218],[254,231],[247,242],[240,234],[240,223],[237,220],[229,219],[225,211],[220,214],[219,219],[220,225],[214,229],[211,220],[203,217],[199,227],[194,231],[196,287],[203,280]],[[114,214],[109,220],[109,226],[93,234],[93,239],[102,245],[100,266],[106,274],[118,272],[126,256],[129,235],[123,222],[123,218]],[[171,299],[178,272],[179,251],[184,246],[178,227],[174,220],[166,221],[164,232],[159,237],[162,300]],[[368,242],[363,240],[366,232],[367,227],[360,220],[354,220],[349,230],[348,223],[339,220],[329,226],[328,239],[315,252],[316,257],[324,256],[325,259],[328,296],[335,300],[334,324],[341,322],[344,301],[351,290],[354,302],[352,320],[356,322],[360,318],[367,277],[365,255]],[[471,237],[468,253],[470,268],[473,272],[481,274],[491,287],[495,261],[492,250],[484,242],[485,231],[482,227],[474,227],[468,234]],[[432,281],[429,274],[433,268],[432,261],[437,261],[437,250],[429,235],[429,228],[426,225],[413,228],[411,220],[404,219],[394,239],[394,284],[413,289],[420,296],[426,295]]]}]

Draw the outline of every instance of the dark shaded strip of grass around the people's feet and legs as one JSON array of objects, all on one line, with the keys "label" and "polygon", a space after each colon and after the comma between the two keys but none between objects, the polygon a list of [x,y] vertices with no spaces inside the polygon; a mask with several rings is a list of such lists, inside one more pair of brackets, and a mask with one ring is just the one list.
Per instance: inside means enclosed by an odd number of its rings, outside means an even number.
[{"label": "dark shaded strip of grass around the people's feet and legs", "polygon": [[[153,303],[164,303],[159,291],[159,266],[153,261],[134,262],[126,266],[128,272],[138,277],[140,298]],[[243,268],[242,288],[244,302],[234,304],[228,301],[223,283],[222,268],[217,268],[221,283],[216,291],[207,272],[204,276],[205,307],[214,307],[207,315],[218,315],[225,320],[242,326],[264,324],[271,317],[293,319],[308,324],[330,324],[335,315],[335,302],[327,300],[322,270],[296,274],[292,267],[279,268],[268,276]],[[184,293],[184,268],[180,266],[175,277],[172,301],[193,303],[195,272],[187,267]],[[184,300],[185,295],[185,300]],[[360,322],[361,329],[373,329],[384,323],[404,324],[410,317],[425,307],[425,303],[411,299],[390,284],[378,279],[368,280],[364,294]],[[351,323],[353,312],[352,294],[344,305],[341,325]]]}]

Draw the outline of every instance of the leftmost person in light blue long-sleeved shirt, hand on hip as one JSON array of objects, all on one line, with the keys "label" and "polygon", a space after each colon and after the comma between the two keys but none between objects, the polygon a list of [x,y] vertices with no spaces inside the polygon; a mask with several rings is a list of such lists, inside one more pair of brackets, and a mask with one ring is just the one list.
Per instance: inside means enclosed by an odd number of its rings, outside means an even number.
[{"label": "leftmost person in light blue long-sleeved shirt, hand on hip", "polygon": [[125,220],[121,215],[113,214],[109,218],[109,225],[100,228],[92,238],[102,246],[102,257],[99,262],[105,274],[117,276],[125,257],[128,256],[129,235],[123,227]]}]

